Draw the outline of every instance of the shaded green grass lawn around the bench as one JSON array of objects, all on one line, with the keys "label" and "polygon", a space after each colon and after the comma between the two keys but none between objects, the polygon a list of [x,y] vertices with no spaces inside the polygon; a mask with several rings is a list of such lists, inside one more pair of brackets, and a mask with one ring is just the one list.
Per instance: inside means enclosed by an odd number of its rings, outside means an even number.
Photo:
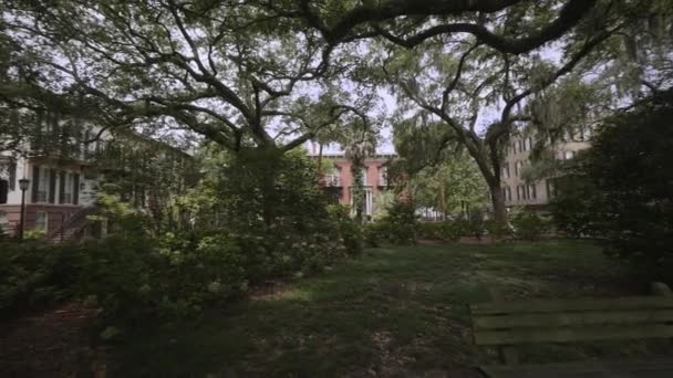
[{"label": "shaded green grass lawn around the bench", "polygon": [[[400,376],[497,361],[472,343],[467,304],[619,296],[645,284],[578,241],[381,248],[180,329],[146,328],[114,348],[114,376]],[[669,342],[665,342],[669,343]],[[670,345],[536,346],[524,361],[661,353]]]}]

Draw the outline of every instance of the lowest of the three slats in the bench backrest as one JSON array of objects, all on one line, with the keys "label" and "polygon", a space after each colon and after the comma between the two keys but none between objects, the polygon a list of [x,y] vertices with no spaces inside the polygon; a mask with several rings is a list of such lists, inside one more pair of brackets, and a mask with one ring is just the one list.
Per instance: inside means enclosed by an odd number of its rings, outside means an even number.
[{"label": "lowest of the three slats in the bench backrest", "polygon": [[475,332],[476,345],[518,345],[614,339],[673,337],[673,325],[648,324],[629,327],[516,328]]}]

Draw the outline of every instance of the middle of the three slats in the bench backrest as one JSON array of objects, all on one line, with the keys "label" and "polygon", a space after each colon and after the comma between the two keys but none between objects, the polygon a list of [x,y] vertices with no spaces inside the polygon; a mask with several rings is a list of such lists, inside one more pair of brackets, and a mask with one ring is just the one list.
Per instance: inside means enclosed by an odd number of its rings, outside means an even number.
[{"label": "middle of the three slats in the bench backrest", "polygon": [[655,324],[665,322],[673,322],[673,309],[476,315],[473,317],[475,330],[612,324]]}]

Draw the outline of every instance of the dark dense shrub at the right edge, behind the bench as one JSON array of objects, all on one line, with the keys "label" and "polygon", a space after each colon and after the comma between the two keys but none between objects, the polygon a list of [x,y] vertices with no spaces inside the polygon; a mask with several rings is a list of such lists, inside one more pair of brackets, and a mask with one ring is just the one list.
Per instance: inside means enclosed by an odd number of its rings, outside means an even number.
[{"label": "dark dense shrub at the right edge, behind the bench", "polygon": [[[673,259],[673,91],[610,117],[573,166],[576,187],[559,186],[555,218],[603,238],[612,255],[665,269]],[[568,214],[562,206],[589,188]],[[577,225],[579,223],[579,225]]]}]

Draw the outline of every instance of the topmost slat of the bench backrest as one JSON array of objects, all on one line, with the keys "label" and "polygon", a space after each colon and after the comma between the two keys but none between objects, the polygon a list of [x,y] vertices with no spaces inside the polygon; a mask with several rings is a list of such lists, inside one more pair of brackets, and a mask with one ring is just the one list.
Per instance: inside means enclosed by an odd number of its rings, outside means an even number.
[{"label": "topmost slat of the bench backrest", "polygon": [[529,300],[478,303],[469,305],[469,308],[474,315],[650,308],[673,309],[673,298],[661,296],[631,296],[610,300]]}]

